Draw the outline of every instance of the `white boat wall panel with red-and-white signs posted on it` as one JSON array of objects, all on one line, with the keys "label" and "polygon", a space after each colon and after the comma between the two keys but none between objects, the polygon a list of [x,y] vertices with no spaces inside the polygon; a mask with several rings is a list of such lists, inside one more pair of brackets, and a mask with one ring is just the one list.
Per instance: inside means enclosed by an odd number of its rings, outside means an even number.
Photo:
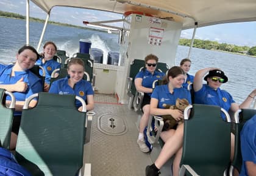
[{"label": "white boat wall panel with red-and-white signs posted on it", "polygon": [[[159,62],[175,65],[176,50],[182,29],[181,22],[132,14],[124,22],[124,39],[120,47],[119,67],[116,75],[116,93],[119,103],[127,104],[127,79],[133,59],[144,59],[149,54],[158,56]],[[130,23],[129,23],[130,22]],[[129,31],[126,32],[126,29]]]}]

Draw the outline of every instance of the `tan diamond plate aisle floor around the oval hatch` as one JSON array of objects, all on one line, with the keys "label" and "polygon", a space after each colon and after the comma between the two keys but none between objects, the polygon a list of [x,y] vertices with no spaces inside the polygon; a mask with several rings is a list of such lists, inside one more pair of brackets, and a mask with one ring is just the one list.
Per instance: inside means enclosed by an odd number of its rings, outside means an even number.
[{"label": "tan diamond plate aisle floor around the oval hatch", "polygon": [[[100,99],[102,98],[106,98],[101,96],[104,95],[96,94],[98,101],[101,101]],[[112,102],[112,100],[110,101]],[[137,121],[137,113],[129,110],[126,104],[119,105],[104,103],[95,103],[94,112],[96,112],[96,115],[93,117],[90,143],[91,175],[145,175],[144,170],[146,166],[152,162],[149,154],[141,152],[137,145],[138,130],[135,124]],[[127,131],[121,135],[111,135],[99,130],[98,118],[108,114],[115,114],[118,118],[121,118],[124,123],[116,123],[115,126],[126,125]],[[88,155],[87,151],[85,151],[85,155]]]}]

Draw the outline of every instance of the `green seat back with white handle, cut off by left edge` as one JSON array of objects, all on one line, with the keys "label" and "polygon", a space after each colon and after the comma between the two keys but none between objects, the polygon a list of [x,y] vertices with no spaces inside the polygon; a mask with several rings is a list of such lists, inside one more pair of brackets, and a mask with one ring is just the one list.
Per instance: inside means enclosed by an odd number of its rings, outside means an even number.
[{"label": "green seat back with white handle, cut off by left edge", "polygon": [[[12,103],[10,103],[9,108],[5,106],[6,95],[10,95],[12,98]],[[11,92],[8,92],[5,89],[0,89],[0,98],[0,147],[9,149],[10,135],[12,131],[13,110],[15,107],[15,97]]]}]

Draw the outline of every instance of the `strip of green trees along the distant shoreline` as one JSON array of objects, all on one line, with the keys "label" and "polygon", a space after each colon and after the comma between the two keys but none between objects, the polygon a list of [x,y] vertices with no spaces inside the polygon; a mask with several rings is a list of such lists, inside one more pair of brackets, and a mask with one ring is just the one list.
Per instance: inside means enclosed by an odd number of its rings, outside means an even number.
[{"label": "strip of green trees along the distant shoreline", "polygon": [[[23,19],[23,20],[26,19],[26,16],[23,16],[17,13],[3,12],[1,10],[0,10],[0,17]],[[35,21],[35,22],[44,22],[43,19],[33,18],[33,17],[30,17],[29,20]],[[48,23],[53,25],[76,27],[78,29],[88,29],[88,30],[97,30],[101,32],[106,32],[105,30],[93,29],[89,27],[82,27],[79,25],[72,25],[72,24],[66,24],[66,23],[55,22],[55,21],[49,21]],[[191,44],[191,39],[180,38],[180,41],[179,41],[180,46],[190,46],[190,44]],[[196,47],[199,49],[217,50],[221,52],[235,53],[239,55],[256,56],[256,46],[254,47],[236,46],[234,44],[227,44],[227,43],[219,44],[216,41],[194,39],[193,47]]]}]

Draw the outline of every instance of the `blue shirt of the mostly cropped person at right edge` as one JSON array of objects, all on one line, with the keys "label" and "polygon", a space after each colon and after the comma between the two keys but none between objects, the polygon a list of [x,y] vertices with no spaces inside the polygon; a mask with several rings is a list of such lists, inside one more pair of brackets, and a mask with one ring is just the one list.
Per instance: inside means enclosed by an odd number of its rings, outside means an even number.
[{"label": "blue shirt of the mostly cropped person at right edge", "polygon": [[248,176],[245,162],[252,161],[256,164],[256,115],[244,124],[240,138],[243,158],[240,176]]}]

